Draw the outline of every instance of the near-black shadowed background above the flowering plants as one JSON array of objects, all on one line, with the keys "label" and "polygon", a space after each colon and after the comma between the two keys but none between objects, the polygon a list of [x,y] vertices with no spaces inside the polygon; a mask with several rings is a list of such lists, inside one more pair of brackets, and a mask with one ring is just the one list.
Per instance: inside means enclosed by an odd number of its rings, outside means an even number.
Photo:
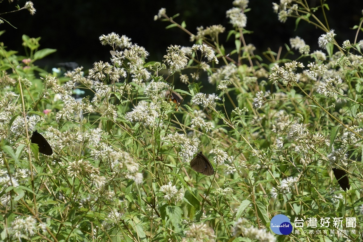
[{"label": "near-black shadowed background above the flowering plants", "polygon": [[[296,31],[295,19],[289,18],[285,24],[277,19],[272,10],[271,0],[250,0],[250,11],[246,13],[248,21],[246,29],[253,34],[246,36],[247,43],[257,47],[257,54],[271,47],[273,51],[279,46],[289,43],[289,38],[299,36],[310,45],[311,50],[318,49],[318,37],[323,34],[320,29],[311,29],[301,21]],[[276,1],[277,2],[277,1]],[[310,6],[320,4],[320,1],[308,1]],[[150,53],[148,61],[160,61],[166,53],[167,46],[191,46],[189,36],[177,28],[165,29],[168,22],[154,21],[154,15],[160,8],[166,8],[168,16],[180,13],[175,20],[185,21],[188,30],[196,33],[198,26],[222,24],[231,29],[225,17],[225,12],[232,8],[232,0],[136,0],[136,1],[44,1],[34,0],[37,12],[33,16],[28,11],[3,14],[17,29],[4,23],[1,30],[6,33],[0,38],[9,49],[25,54],[21,46],[21,36],[41,37],[41,48],[53,48],[58,51],[44,60],[37,62],[39,66],[46,66],[48,71],[56,67],[58,62],[77,62],[79,66],[90,68],[94,62],[109,60],[110,46],[102,46],[98,37],[102,34],[115,32],[120,36],[125,34],[132,39],[132,43],[144,46]],[[327,1],[330,11],[326,11],[330,28],[335,30],[337,40],[341,44],[344,40],[354,41],[356,30],[351,30],[359,24],[362,17],[363,1]],[[8,1],[0,3],[1,12],[12,11],[15,5],[23,7],[25,1]],[[321,15],[319,10],[318,16]],[[321,18],[322,19],[322,18]],[[225,42],[227,33],[223,34],[220,42]],[[357,41],[363,39],[359,34]],[[225,43],[226,49],[233,48],[233,39]]]}]

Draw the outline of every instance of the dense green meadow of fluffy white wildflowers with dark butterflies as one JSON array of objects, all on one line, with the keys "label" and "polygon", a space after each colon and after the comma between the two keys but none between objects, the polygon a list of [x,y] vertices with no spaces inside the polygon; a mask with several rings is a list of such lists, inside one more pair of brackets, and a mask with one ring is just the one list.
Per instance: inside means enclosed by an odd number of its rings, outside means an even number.
[{"label": "dense green meadow of fluffy white wildflowers with dark butterflies", "polygon": [[308,2],[269,6],[321,32],[279,50],[246,42],[248,0],[196,30],[161,8],[190,45],[158,60],[112,32],[108,61],[50,73],[40,38],[1,43],[0,241],[363,241],[363,11],[338,43]]}]

